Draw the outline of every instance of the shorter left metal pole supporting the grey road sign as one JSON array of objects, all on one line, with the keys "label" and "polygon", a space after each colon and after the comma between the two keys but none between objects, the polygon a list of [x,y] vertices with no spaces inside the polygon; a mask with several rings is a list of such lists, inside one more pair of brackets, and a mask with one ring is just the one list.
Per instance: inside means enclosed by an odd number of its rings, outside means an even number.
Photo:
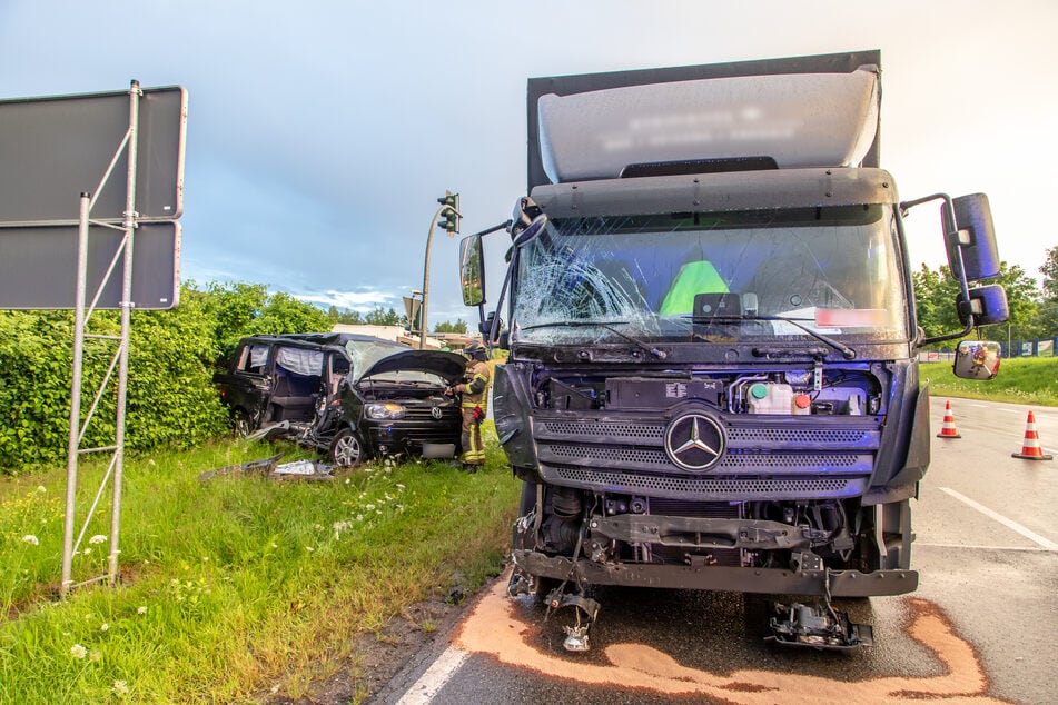
[{"label": "shorter left metal pole supporting the grey road sign", "polygon": [[81,431],[81,374],[85,361],[85,292],[88,288],[88,214],[91,196],[81,193],[77,227],[77,288],[73,295],[73,374],[70,380],[70,438],[66,446],[66,522],[62,530],[62,583],[66,597],[73,574],[73,508],[77,500],[77,448]]}]

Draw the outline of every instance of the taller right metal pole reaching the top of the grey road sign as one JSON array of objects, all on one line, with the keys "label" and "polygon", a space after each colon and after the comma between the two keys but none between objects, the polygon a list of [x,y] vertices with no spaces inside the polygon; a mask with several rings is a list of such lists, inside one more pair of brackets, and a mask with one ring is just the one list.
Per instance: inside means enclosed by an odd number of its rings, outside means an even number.
[{"label": "taller right metal pole reaching the top of the grey road sign", "polygon": [[136,231],[136,160],[139,140],[139,81],[129,87],[129,171],[125,191],[125,271],[121,284],[121,360],[118,367],[118,414],[116,419],[113,504],[110,507],[110,560],[108,578],[110,587],[118,582],[118,535],[121,529],[121,478],[125,470],[125,408],[129,387],[129,338],[132,328],[132,242]]}]

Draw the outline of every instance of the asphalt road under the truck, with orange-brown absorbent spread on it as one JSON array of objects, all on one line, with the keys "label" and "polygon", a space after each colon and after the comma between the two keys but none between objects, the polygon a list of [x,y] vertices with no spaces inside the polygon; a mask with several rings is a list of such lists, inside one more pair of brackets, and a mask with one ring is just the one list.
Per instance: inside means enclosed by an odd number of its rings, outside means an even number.
[{"label": "asphalt road under the truck, with orange-brown absorbent spread on it", "polygon": [[[931,403],[933,434],[946,398]],[[378,703],[1058,702],[1058,460],[1011,457],[1030,407],[951,399],[913,503],[912,595],[838,604],[874,627],[852,654],[775,647],[734,593],[601,588],[587,654],[502,577]],[[1058,456],[1058,409],[1032,408]]]}]

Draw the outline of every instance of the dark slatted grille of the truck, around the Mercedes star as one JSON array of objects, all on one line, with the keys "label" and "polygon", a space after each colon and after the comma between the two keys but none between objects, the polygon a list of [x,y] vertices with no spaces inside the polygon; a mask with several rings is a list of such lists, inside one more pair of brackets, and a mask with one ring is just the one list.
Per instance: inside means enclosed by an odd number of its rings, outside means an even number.
[{"label": "dark slatted grille of the truck, around the Mercedes star", "polygon": [[725,449],[703,473],[669,459],[663,418],[537,413],[533,430],[546,481],[701,502],[862,495],[881,437],[880,419],[862,416],[730,415],[720,423]]}]

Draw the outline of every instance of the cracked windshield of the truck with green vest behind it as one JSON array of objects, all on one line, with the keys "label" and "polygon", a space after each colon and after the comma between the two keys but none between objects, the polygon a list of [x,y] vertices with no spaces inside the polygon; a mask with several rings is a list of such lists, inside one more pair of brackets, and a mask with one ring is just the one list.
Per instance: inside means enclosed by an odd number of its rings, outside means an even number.
[{"label": "cracked windshield of the truck with green vest behind it", "polygon": [[517,254],[514,335],[906,340],[897,241],[888,206],[556,220]]}]

